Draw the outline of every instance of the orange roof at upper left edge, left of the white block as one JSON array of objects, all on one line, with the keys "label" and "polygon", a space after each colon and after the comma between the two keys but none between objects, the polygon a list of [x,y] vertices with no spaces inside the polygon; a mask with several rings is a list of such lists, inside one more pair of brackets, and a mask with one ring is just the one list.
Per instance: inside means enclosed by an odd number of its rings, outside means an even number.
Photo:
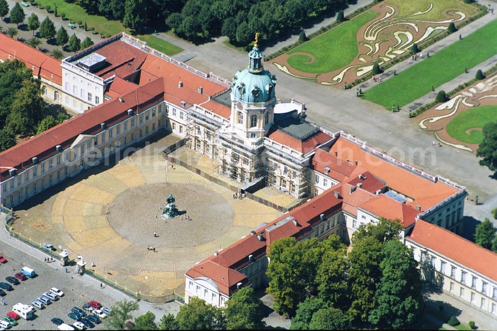
[{"label": "orange roof at upper left edge, left of the white block", "polygon": [[[10,59],[8,56],[10,55]],[[33,76],[42,77],[50,82],[62,85],[62,67],[61,61],[0,33],[0,59],[20,60],[26,64],[26,67],[33,69]],[[53,75],[53,77],[52,77]]]}]

